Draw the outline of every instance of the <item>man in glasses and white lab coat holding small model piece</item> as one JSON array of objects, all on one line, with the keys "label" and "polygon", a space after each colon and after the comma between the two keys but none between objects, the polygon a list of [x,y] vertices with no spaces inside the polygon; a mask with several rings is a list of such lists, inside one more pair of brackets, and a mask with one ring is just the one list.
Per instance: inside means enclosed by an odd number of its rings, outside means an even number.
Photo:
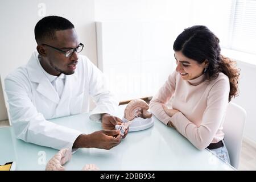
[{"label": "man in glasses and white lab coat holding small model piece", "polygon": [[[112,114],[118,102],[106,88],[102,72],[86,56],[78,55],[84,44],[73,24],[59,16],[46,16],[35,26],[35,39],[37,52],[27,65],[5,78],[16,137],[56,149],[117,146],[121,135],[114,126],[122,121]],[[105,130],[86,135],[47,121],[81,113],[82,104],[89,111],[89,96],[96,102],[90,118],[101,120]]]}]

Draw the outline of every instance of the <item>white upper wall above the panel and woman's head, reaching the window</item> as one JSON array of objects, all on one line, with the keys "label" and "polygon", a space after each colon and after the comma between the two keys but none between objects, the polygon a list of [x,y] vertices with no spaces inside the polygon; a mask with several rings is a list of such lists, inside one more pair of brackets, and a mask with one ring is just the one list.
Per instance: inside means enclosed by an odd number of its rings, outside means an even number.
[{"label": "white upper wall above the panel and woman's head, reaching the window", "polygon": [[[169,21],[175,36],[195,24],[208,26],[226,45],[233,0],[95,0],[96,21]],[[221,6],[220,6],[221,5]],[[221,28],[220,28],[221,27]]]}]

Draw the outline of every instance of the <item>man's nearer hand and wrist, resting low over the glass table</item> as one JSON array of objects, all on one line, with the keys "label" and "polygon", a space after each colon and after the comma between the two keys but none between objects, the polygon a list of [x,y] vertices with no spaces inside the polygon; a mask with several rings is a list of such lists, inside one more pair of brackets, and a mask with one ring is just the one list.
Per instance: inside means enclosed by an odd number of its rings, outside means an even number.
[{"label": "man's nearer hand and wrist, resting low over the glass table", "polygon": [[75,140],[75,148],[103,148],[110,150],[121,142],[119,130],[100,130],[91,134],[81,134]]}]

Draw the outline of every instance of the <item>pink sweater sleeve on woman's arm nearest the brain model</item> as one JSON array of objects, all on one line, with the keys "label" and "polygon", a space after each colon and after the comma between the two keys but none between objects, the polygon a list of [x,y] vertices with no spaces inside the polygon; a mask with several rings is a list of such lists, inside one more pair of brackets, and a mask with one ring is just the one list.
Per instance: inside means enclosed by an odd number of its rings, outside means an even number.
[{"label": "pink sweater sleeve on woman's arm nearest the brain model", "polygon": [[150,101],[150,111],[165,125],[170,121],[171,117],[166,114],[163,105],[166,104],[175,92],[176,77],[174,71],[165,84],[160,88],[158,93]]}]

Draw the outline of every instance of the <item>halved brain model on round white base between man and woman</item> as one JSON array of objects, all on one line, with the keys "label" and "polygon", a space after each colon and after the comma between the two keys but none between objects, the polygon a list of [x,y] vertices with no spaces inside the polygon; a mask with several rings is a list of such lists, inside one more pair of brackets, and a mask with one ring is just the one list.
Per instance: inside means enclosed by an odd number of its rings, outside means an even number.
[{"label": "halved brain model on round white base between man and woman", "polygon": [[144,119],[151,118],[152,114],[149,111],[147,111],[148,109],[149,109],[149,106],[147,102],[139,98],[135,100],[131,100],[125,108],[125,118],[128,121],[131,121],[135,117],[141,117]]}]

